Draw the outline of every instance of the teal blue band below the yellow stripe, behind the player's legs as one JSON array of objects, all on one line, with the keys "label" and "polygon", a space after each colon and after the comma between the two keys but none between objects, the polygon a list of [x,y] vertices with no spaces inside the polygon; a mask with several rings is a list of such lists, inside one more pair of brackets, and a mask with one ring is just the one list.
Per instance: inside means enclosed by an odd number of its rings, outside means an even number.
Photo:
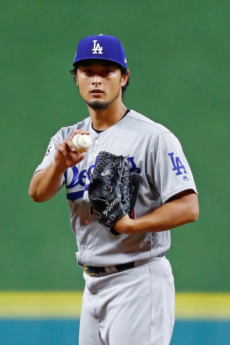
[{"label": "teal blue band below the yellow stripe, behind the player's legs", "polygon": [[[0,320],[1,345],[78,345],[78,336],[79,320],[75,319]],[[230,344],[230,322],[175,322],[170,345],[204,344]]]}]

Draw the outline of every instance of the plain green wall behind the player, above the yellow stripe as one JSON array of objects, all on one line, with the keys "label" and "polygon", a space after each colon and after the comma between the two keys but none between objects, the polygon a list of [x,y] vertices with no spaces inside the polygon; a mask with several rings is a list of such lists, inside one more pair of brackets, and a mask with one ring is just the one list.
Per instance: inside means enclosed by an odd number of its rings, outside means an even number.
[{"label": "plain green wall behind the player, above the yellow stripe", "polygon": [[1,290],[81,290],[64,188],[36,204],[50,137],[88,116],[69,73],[85,36],[127,53],[124,104],[179,138],[199,191],[196,223],[171,231],[177,291],[229,291],[229,1],[29,1],[1,5]]}]

